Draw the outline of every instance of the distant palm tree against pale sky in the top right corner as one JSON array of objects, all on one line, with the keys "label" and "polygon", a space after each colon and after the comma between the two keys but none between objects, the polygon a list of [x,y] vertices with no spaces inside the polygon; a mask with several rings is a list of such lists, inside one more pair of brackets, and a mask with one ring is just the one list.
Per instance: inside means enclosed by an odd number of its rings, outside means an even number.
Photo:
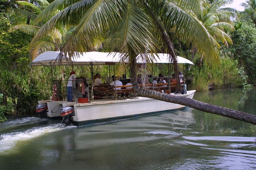
[{"label": "distant palm tree against pale sky in the top right corner", "polygon": [[245,10],[241,12],[241,18],[244,20],[251,19],[256,25],[256,0],[247,0],[241,4]]}]

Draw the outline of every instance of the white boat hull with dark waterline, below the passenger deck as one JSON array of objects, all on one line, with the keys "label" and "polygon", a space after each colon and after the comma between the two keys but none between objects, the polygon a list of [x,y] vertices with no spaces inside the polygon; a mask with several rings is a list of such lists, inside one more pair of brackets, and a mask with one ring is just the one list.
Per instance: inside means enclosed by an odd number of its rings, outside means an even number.
[{"label": "white boat hull with dark waterline, below the passenger deck", "polygon": [[[181,94],[180,96],[193,98],[195,92],[195,90],[188,91],[187,94]],[[73,121],[75,125],[138,117],[147,114],[160,113],[166,110],[182,110],[186,107],[180,104],[163,102],[145,97],[125,100],[98,100],[95,103],[84,104],[54,101],[47,102],[47,105],[47,116],[52,119],[60,117],[60,108],[74,105],[75,115],[73,116]]]}]

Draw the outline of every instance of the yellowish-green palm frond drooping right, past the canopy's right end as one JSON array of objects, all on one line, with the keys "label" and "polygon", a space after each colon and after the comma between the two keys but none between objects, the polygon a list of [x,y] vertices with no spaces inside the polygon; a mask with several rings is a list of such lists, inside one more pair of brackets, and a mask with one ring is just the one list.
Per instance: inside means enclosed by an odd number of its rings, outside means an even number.
[{"label": "yellowish-green palm frond drooping right, past the canopy's right end", "polygon": [[[165,16],[166,26],[173,28],[175,26],[175,34],[182,40],[191,42],[196,46],[198,52],[203,54],[207,59],[218,61],[219,44],[210,35],[203,23],[198,20],[196,15],[177,3],[169,2],[166,4],[169,11]],[[168,28],[168,27],[167,27]]]}]

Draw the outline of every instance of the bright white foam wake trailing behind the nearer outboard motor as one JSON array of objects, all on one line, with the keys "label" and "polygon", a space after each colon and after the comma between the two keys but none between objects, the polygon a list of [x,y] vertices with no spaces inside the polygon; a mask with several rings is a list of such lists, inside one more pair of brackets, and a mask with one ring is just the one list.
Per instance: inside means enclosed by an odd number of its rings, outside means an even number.
[{"label": "bright white foam wake trailing behind the nearer outboard motor", "polygon": [[46,133],[60,131],[76,126],[65,126],[64,124],[53,124],[50,126],[34,127],[23,132],[6,133],[0,136],[0,153],[13,148],[17,142],[33,139]]}]

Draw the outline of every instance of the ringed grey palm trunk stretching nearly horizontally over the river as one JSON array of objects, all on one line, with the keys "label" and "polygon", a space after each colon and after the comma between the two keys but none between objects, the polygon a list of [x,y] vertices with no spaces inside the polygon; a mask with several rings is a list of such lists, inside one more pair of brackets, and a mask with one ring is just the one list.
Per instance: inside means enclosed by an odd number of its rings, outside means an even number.
[{"label": "ringed grey palm trunk stretching nearly horizontally over the river", "polygon": [[216,106],[216,105],[212,105],[212,104],[204,103],[204,102],[199,102],[194,99],[181,97],[181,96],[177,96],[177,95],[159,93],[159,92],[151,91],[148,89],[138,88],[136,92],[137,92],[137,94],[139,94],[142,97],[148,97],[151,99],[161,100],[164,102],[181,104],[181,105],[185,105],[190,108],[194,108],[194,109],[201,110],[204,112],[221,115],[221,116],[225,116],[225,117],[230,117],[232,119],[237,119],[237,120],[241,120],[241,121],[256,125],[256,116],[255,115],[250,115],[248,113],[244,113],[241,111],[223,108],[220,106]]}]

